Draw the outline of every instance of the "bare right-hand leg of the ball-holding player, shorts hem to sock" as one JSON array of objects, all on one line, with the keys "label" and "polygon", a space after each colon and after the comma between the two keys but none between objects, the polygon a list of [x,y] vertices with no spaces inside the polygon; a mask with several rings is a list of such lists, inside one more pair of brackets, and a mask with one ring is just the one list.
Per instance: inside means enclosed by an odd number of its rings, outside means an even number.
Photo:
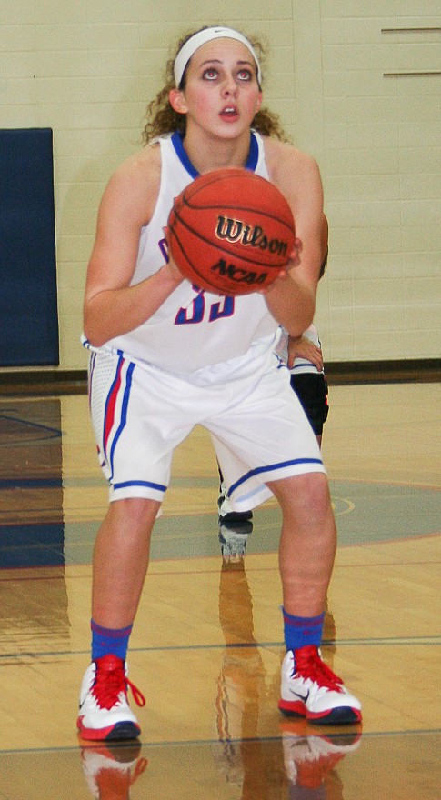
[{"label": "bare right-hand leg of the ball-holding player, shorts hem to sock", "polygon": [[283,513],[279,567],[288,614],[318,616],[336,555],[336,524],[326,475],[297,475],[268,486]]}]

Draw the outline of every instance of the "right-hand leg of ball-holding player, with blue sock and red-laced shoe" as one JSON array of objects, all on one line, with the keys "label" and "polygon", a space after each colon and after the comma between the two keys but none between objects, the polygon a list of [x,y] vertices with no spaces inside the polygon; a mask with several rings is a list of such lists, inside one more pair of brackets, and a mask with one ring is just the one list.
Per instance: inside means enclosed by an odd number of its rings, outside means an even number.
[{"label": "right-hand leg of ball-holding player, with blue sock and red-laced shoe", "polygon": [[286,656],[279,708],[317,725],[359,722],[359,701],[326,666],[319,650],[336,553],[326,475],[296,475],[268,485],[283,513],[279,565]]}]

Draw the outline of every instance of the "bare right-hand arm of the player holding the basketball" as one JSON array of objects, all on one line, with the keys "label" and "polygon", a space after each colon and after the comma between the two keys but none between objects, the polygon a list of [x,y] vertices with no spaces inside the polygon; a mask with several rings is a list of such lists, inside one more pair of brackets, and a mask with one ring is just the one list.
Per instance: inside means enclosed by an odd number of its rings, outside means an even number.
[{"label": "bare right-hand arm of the player holding the basketball", "polygon": [[323,189],[316,162],[296,148],[266,140],[271,180],[291,205],[300,240],[286,276],[266,292],[272,315],[288,334],[299,336],[311,324],[316,307],[322,247]]}]

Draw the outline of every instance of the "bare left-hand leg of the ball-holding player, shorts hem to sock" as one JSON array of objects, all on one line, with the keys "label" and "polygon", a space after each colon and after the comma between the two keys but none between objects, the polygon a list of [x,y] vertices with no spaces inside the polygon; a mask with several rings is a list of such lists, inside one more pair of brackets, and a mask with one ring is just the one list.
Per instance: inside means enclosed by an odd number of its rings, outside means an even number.
[{"label": "bare left-hand leg of the ball-holding player, shorts hem to sock", "polygon": [[159,509],[155,500],[130,498],[109,505],[95,541],[92,617],[97,625],[132,625],[143,590],[150,537]]}]

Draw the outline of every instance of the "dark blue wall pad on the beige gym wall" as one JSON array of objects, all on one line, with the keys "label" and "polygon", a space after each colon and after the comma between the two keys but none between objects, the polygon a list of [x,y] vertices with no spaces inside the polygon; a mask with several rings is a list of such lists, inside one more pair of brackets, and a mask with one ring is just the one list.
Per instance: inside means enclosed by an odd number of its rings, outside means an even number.
[{"label": "dark blue wall pad on the beige gym wall", "polygon": [[0,366],[59,364],[53,135],[0,130]]}]

